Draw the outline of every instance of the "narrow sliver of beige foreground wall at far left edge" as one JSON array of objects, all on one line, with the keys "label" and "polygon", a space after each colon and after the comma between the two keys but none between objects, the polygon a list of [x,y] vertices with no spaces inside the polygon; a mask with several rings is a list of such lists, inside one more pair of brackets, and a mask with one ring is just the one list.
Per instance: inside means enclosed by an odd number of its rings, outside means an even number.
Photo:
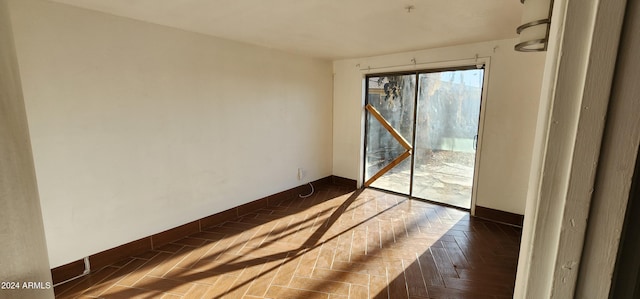
[{"label": "narrow sliver of beige foreground wall at far left edge", "polygon": [[0,296],[53,298],[53,288],[5,283],[40,282],[51,287],[44,225],[7,1],[0,0]]}]

